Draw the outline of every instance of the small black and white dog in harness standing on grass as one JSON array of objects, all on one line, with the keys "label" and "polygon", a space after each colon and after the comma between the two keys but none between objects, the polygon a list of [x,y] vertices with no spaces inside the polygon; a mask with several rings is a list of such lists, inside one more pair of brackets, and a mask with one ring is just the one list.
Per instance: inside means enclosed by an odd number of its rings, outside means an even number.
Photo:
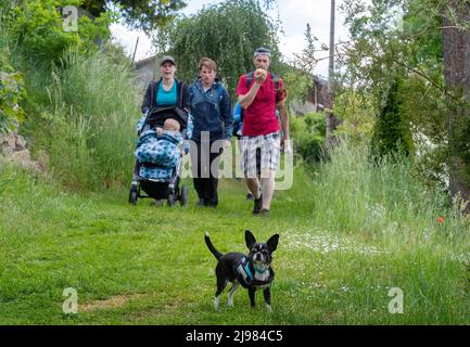
[{"label": "small black and white dog in harness standing on grass", "polygon": [[266,243],[257,243],[250,230],[245,231],[246,246],[250,249],[249,256],[242,253],[218,252],[211,242],[208,234],[204,236],[208,249],[218,260],[215,273],[217,277],[217,292],[215,293],[214,307],[218,310],[221,292],[228,282],[233,283],[228,293],[228,306],[233,307],[233,293],[239,285],[247,288],[251,306],[255,306],[255,292],[263,290],[265,304],[268,311],[271,311],[270,285],[275,278],[271,268],[272,252],[276,250],[279,234],[275,234]]}]

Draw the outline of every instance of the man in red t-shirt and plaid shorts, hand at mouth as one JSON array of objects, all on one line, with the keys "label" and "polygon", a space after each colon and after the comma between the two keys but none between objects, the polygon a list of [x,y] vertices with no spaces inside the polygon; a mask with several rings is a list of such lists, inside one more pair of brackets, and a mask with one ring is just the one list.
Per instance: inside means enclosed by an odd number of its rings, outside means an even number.
[{"label": "man in red t-shirt and plaid shorts, hand at mouth", "polygon": [[[269,50],[258,48],[253,55],[253,63],[256,70],[241,76],[237,86],[237,95],[243,110],[241,166],[246,185],[255,197],[253,214],[267,216],[281,146],[284,151],[291,151],[289,118],[283,81],[268,73]],[[281,118],[282,139],[279,137],[276,108]],[[256,152],[261,153],[261,163],[256,163]],[[257,172],[257,166],[261,172]],[[261,174],[261,178],[257,174]]]}]

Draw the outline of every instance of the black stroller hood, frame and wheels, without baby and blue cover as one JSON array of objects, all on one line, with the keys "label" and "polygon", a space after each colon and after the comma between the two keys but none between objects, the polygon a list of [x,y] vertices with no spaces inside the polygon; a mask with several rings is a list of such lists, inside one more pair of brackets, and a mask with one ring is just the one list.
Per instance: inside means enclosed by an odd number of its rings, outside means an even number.
[{"label": "black stroller hood, frame and wheels, without baby and blue cover", "polygon": [[[188,116],[185,112],[175,106],[151,108],[147,113],[143,126],[138,132],[139,136],[145,130],[155,129],[157,126],[162,127],[167,118],[178,120],[180,132],[185,139]],[[166,200],[168,205],[172,207],[175,206],[177,201],[180,202],[181,206],[186,206],[188,204],[188,188],[186,184],[182,184],[181,189],[179,189],[182,169],[181,157],[178,160],[178,165],[172,168],[170,177],[165,179],[141,177],[140,172],[142,166],[147,168],[158,168],[158,166],[153,163],[139,163],[139,160],[136,159],[132,182],[129,191],[129,203],[136,205],[139,198],[150,197],[155,200]],[[145,194],[142,194],[142,192]]]}]

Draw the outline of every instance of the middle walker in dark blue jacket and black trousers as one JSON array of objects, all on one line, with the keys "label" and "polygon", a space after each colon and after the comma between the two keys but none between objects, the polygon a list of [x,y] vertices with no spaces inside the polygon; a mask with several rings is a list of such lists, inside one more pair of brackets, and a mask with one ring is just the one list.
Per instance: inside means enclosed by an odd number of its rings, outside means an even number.
[{"label": "middle walker in dark blue jacket and black trousers", "polygon": [[218,162],[224,147],[230,145],[233,117],[230,95],[216,78],[217,65],[203,57],[199,78],[191,87],[191,171],[199,205],[218,204]]}]

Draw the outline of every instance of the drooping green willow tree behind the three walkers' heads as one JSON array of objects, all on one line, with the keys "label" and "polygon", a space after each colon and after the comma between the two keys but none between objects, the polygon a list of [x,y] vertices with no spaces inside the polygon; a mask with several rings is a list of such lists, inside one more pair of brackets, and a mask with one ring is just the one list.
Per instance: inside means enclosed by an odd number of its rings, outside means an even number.
[{"label": "drooping green willow tree behind the three walkers' heads", "polygon": [[158,30],[154,41],[161,53],[175,55],[180,78],[193,80],[199,60],[208,56],[217,62],[219,76],[234,91],[239,76],[253,69],[253,52],[258,47],[270,49],[271,70],[281,68],[278,29],[279,24],[258,1],[228,0],[176,20]]}]

